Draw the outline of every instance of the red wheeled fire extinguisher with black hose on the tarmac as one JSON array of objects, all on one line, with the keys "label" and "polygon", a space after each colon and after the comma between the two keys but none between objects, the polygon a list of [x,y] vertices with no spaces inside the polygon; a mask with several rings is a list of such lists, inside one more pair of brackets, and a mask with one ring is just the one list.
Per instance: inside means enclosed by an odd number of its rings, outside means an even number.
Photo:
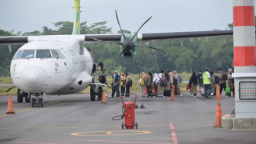
[{"label": "red wheeled fire extinguisher with black hose on the tarmac", "polygon": [[[121,100],[123,103],[123,106],[122,106],[123,114],[120,116],[113,117],[112,120],[121,120],[121,119],[123,120],[123,117],[124,117],[124,124],[122,123],[121,125],[122,129],[124,126],[126,126],[126,129],[134,129],[134,126],[136,129],[138,129],[138,123],[135,122],[135,104],[136,104],[137,95],[134,94],[135,95],[134,100],[131,100],[130,97],[126,97],[128,98],[128,101],[126,103],[123,102],[122,95],[121,95]],[[117,119],[117,117],[120,117],[120,118]]]}]

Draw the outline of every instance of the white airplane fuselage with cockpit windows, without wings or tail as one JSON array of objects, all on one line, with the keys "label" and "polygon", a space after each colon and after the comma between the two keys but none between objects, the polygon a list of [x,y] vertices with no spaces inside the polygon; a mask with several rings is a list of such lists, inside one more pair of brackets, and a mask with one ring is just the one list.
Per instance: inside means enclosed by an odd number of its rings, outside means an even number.
[{"label": "white airplane fuselage with cockpit windows, without wings or tail", "polygon": [[79,44],[70,45],[34,40],[21,46],[11,61],[14,85],[30,94],[75,94],[87,88],[92,82],[91,55],[85,47],[78,54],[74,46]]}]

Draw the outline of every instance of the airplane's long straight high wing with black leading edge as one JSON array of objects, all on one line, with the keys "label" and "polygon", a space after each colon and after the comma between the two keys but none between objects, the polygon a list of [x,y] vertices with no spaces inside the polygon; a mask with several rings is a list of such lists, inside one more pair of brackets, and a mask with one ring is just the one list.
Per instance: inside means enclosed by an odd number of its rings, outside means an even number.
[{"label": "airplane's long straight high wing with black leading edge", "polygon": [[[170,40],[182,39],[189,37],[214,37],[232,35],[233,30],[209,30],[209,31],[190,31],[190,32],[172,32],[172,33],[151,33],[151,34],[138,34],[138,40]],[[72,37],[72,35],[69,35]],[[28,43],[30,36],[27,37],[0,37],[0,45],[19,45]],[[40,36],[33,36],[40,37]],[[45,37],[45,36],[41,36]],[[93,38],[104,41],[120,41],[121,34],[86,34],[85,42],[97,42]]]}]

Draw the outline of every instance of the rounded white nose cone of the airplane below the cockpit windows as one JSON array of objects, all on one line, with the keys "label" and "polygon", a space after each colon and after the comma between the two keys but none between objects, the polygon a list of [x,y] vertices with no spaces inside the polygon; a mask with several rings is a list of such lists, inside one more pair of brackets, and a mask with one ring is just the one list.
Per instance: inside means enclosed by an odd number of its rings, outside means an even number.
[{"label": "rounded white nose cone of the airplane below the cockpit windows", "polygon": [[21,72],[21,82],[30,93],[43,92],[42,86],[47,80],[46,71],[40,66],[29,66]]}]

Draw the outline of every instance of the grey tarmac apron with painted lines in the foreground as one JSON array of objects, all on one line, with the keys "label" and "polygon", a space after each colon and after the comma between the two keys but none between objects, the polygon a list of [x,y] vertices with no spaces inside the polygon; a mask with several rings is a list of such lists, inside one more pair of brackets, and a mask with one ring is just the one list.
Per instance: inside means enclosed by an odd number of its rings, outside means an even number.
[{"label": "grey tarmac apron with painted lines in the foreground", "polygon": [[[199,95],[199,93],[197,93]],[[47,96],[43,107],[18,103],[12,96],[16,114],[5,115],[8,96],[0,97],[0,143],[67,144],[67,143],[256,143],[256,130],[216,130],[213,127],[217,100],[201,96],[142,98],[135,110],[138,129],[122,130],[120,98],[107,98],[107,104],[90,101],[89,94]],[[133,98],[133,97],[131,97]],[[43,98],[44,99],[44,98]],[[125,101],[126,98],[124,98]],[[230,114],[234,97],[222,95],[222,114]]]}]

